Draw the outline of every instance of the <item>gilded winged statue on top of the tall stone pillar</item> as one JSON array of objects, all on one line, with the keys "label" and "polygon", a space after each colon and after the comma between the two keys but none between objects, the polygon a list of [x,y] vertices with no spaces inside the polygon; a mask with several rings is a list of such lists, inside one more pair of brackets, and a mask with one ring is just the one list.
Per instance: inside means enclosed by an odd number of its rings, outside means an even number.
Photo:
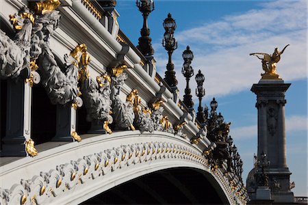
[{"label": "gilded winged statue on top of the tall stone pillar", "polygon": [[[268,53],[249,54],[249,55],[255,55],[257,56],[257,58],[261,59],[262,69],[264,70],[264,74],[261,74],[262,79],[279,79],[279,74],[277,74],[276,72],[277,68],[276,64],[279,62],[280,56],[281,54],[283,54],[287,46],[290,46],[290,44],[287,44],[281,52],[278,50],[278,48],[275,48],[274,53],[272,53],[272,55]],[[260,55],[263,56],[263,58],[260,57]]]}]

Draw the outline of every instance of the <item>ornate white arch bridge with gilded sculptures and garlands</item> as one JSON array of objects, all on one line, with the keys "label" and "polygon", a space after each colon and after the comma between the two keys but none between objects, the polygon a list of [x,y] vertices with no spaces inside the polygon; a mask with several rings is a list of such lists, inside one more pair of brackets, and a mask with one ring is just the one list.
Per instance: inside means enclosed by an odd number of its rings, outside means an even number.
[{"label": "ornate white arch bridge with gilded sculptures and garlands", "polygon": [[114,1],[0,13],[0,204],[246,204],[216,100],[198,122],[120,31]]}]

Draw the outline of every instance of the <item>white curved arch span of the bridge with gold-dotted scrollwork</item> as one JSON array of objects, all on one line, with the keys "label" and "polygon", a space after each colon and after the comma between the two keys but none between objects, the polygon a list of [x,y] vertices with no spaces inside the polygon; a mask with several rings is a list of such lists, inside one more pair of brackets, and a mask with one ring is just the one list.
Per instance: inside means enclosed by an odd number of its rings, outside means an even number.
[{"label": "white curved arch span of the bridge with gold-dotted scrollwork", "polygon": [[79,204],[134,178],[187,167],[211,178],[224,203],[237,204],[227,176],[220,169],[211,170],[203,152],[177,135],[123,131],[84,135],[80,143],[59,144],[44,143],[37,146],[40,154],[36,158],[2,166],[2,183],[11,187],[2,187],[7,188],[8,197],[2,197],[1,204],[21,200],[29,204]]}]

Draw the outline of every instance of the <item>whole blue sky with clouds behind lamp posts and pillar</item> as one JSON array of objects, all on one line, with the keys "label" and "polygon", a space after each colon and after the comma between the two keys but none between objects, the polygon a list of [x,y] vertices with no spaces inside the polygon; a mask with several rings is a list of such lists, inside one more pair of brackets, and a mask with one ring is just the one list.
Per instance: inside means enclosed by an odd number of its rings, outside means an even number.
[{"label": "whole blue sky with clouds behind lamp posts and pillar", "polygon": [[[120,29],[137,45],[142,15],[135,1],[118,0],[116,9]],[[181,54],[190,45],[195,74],[198,69],[205,74],[203,105],[209,105],[215,96],[218,111],[232,122],[231,135],[244,161],[244,179],[253,167],[253,153],[257,152],[256,96],[250,89],[262,72],[261,62],[248,54],[272,53],[275,47],[282,49],[291,44],[277,64],[277,72],[285,83],[292,83],[285,105],[287,164],[291,182],[296,183],[292,191],[307,196],[307,2],[155,1],[149,27],[157,72],[162,77],[168,61],[162,47],[162,23],[168,12],[177,22],[175,38],[179,48],[172,56],[177,79],[184,80]],[[194,91],[194,77],[190,85]],[[178,87],[183,96],[184,83]]]}]

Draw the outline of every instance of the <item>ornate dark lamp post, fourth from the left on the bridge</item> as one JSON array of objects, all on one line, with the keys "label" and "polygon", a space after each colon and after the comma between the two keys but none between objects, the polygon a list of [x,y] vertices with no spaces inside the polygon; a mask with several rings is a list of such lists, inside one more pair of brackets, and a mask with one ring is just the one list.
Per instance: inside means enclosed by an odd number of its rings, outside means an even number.
[{"label": "ornate dark lamp post, fourth from the left on the bridge", "polygon": [[[198,113],[197,113],[197,120],[201,124],[205,124],[207,118],[205,118],[205,113],[203,112],[203,107],[201,106],[201,101],[203,96],[205,96],[205,89],[203,88],[203,83],[205,80],[204,75],[201,73],[201,70],[198,71],[198,74],[196,74],[196,96],[199,98],[199,106],[198,106]],[[205,107],[207,109],[207,107]]]}]

